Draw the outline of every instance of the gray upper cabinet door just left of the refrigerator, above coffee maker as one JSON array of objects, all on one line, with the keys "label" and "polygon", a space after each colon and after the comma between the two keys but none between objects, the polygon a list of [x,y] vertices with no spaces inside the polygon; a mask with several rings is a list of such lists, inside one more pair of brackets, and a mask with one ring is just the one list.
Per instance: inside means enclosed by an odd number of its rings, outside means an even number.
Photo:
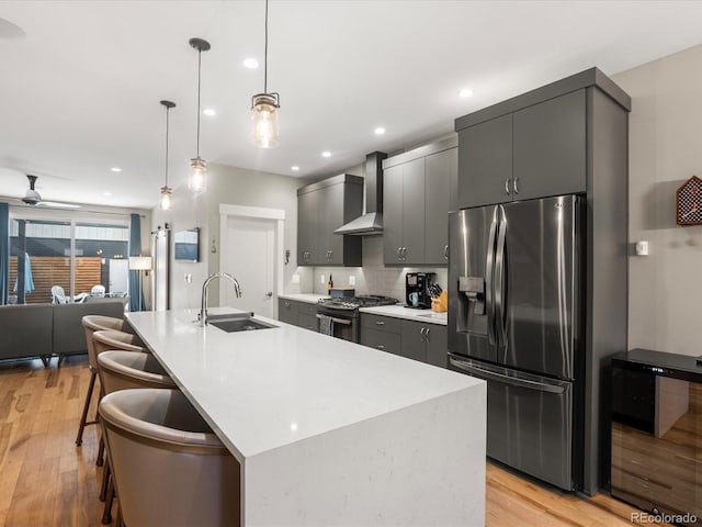
[{"label": "gray upper cabinet door just left of the refrigerator, above coffee maker", "polygon": [[457,178],[458,150],[440,152],[424,159],[424,261],[449,261],[449,211],[452,184]]}]

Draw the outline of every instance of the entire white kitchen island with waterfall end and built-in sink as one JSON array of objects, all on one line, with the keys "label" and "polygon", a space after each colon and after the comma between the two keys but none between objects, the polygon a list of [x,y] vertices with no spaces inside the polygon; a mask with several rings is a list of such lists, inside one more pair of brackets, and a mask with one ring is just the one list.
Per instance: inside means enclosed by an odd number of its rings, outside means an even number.
[{"label": "entire white kitchen island with waterfall end and built-in sink", "polygon": [[484,381],[263,317],[126,316],[239,461],[241,525],[485,525]]}]

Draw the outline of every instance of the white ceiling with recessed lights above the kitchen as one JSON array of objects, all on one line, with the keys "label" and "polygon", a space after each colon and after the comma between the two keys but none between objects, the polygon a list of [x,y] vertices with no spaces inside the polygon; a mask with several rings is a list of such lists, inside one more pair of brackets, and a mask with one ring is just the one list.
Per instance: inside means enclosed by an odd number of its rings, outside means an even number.
[{"label": "white ceiling with recessed lights above the kitchen", "polygon": [[[155,206],[161,99],[177,103],[169,184],[182,184],[195,157],[191,37],[212,44],[202,108],[217,114],[202,116],[202,157],[298,177],[416,146],[457,116],[592,66],[611,76],[702,43],[699,1],[270,0],[281,136],[259,149],[250,102],[263,89],[263,0],[0,2],[0,195],[24,195],[33,173],[45,200]],[[261,66],[245,68],[247,57]]]}]

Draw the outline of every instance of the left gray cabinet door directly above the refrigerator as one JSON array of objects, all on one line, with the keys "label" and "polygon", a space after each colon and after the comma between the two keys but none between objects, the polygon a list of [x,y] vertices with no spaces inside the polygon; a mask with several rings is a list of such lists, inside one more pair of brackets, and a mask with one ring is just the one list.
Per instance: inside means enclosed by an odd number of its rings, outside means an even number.
[{"label": "left gray cabinet door directly above the refrigerator", "polygon": [[512,115],[458,132],[458,209],[512,200]]}]

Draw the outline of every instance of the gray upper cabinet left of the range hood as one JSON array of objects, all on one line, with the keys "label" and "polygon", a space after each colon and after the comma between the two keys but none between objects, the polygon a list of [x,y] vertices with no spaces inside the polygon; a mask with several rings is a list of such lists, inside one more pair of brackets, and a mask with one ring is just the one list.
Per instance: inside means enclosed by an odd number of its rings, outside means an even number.
[{"label": "gray upper cabinet left of the range hood", "polygon": [[297,189],[297,265],[361,266],[361,237],[333,234],[363,212],[363,178],[342,173]]}]

